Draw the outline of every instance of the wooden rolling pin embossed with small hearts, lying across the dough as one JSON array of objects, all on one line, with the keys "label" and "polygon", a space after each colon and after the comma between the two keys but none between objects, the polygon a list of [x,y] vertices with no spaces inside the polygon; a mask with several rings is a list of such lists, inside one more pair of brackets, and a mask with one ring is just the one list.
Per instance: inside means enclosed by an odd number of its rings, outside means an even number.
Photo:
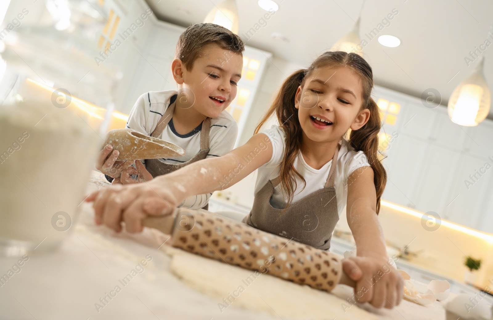
[{"label": "wooden rolling pin embossed with small hearts, lying across the dough", "polygon": [[171,234],[173,247],[231,265],[324,291],[339,283],[355,286],[338,256],[206,210],[177,208],[174,215],[149,217],[143,225]]}]

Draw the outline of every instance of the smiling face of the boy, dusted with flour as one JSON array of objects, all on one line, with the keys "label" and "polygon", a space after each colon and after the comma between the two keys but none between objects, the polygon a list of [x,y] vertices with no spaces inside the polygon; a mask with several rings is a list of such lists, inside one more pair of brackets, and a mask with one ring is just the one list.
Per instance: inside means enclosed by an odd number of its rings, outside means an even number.
[{"label": "smiling face of the boy, dusted with flour", "polygon": [[242,55],[215,43],[205,46],[190,70],[182,68],[182,83],[178,85],[187,96],[192,95],[182,107],[192,107],[204,116],[216,118],[234,100],[242,67]]}]

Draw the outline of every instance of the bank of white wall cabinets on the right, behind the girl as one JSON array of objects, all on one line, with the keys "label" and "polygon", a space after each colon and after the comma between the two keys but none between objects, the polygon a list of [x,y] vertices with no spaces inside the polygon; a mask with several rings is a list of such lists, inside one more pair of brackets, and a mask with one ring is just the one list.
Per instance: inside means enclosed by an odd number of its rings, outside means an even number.
[{"label": "bank of white wall cabinets on the right, behind the girl", "polygon": [[395,125],[384,123],[382,128],[382,132],[395,130],[398,135],[383,162],[388,179],[382,198],[493,232],[493,169],[478,175],[469,189],[464,182],[486,162],[493,167],[493,121],[462,127],[451,121],[443,106],[429,109],[416,97],[379,87],[375,92],[377,99],[401,105]]}]

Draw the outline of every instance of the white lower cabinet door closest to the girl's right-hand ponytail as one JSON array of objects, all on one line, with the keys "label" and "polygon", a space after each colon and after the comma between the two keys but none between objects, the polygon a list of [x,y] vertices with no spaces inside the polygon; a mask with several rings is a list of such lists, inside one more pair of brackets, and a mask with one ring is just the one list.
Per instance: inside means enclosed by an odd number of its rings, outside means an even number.
[{"label": "white lower cabinet door closest to the girl's right-hand ponytail", "polygon": [[395,148],[387,170],[387,186],[383,199],[414,208],[412,197],[419,167],[426,151],[426,143],[401,133],[395,141]]}]

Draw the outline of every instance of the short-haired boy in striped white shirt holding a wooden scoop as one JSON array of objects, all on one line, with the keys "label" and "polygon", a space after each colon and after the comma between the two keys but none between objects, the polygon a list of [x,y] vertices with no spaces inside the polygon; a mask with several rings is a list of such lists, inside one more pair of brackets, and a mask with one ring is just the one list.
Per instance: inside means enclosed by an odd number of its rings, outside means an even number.
[{"label": "short-haired boy in striped white shirt holding a wooden scoop", "polygon": [[[116,161],[118,151],[107,145],[96,168],[112,184],[128,184],[148,181],[191,162],[230,152],[238,125],[225,109],[237,93],[244,50],[241,38],[224,27],[210,23],[188,27],[178,39],[171,65],[178,92],[143,94],[127,122],[127,128],[180,146],[185,155],[147,159],[145,165],[135,161],[133,167],[133,160]],[[207,209],[211,195],[188,197],[180,206]]]}]

